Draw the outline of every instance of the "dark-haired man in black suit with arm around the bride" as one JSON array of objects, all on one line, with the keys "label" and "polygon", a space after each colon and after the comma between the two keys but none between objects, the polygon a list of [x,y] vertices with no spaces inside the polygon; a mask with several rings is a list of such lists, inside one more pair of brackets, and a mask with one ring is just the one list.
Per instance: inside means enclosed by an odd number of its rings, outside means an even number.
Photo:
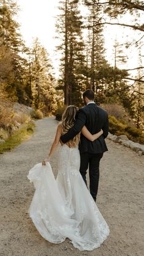
[{"label": "dark-haired man in black suit with arm around the bride", "polygon": [[70,141],[70,139],[73,139],[73,137],[82,130],[84,125],[92,134],[98,133],[103,129],[103,135],[93,142],[88,141],[81,133],[81,140],[79,142],[79,152],[81,156],[80,172],[87,185],[86,174],[89,165],[90,194],[96,201],[99,182],[99,162],[103,157],[103,153],[107,151],[104,139],[109,132],[109,120],[107,112],[95,104],[92,90],[85,90],[83,99],[85,107],[80,108],[77,112],[76,122],[73,128],[62,135],[60,139],[65,144]]}]

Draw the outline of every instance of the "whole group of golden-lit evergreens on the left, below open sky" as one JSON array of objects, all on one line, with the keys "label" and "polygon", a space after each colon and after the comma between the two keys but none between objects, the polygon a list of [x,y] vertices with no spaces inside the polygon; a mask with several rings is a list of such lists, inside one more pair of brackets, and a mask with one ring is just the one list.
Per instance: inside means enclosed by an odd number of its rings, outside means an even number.
[{"label": "whole group of golden-lit evergreens on the left, below open sky", "polygon": [[18,10],[15,1],[0,0],[1,100],[18,101],[47,114],[57,108],[51,61],[37,38],[33,49],[24,45],[15,20]]}]

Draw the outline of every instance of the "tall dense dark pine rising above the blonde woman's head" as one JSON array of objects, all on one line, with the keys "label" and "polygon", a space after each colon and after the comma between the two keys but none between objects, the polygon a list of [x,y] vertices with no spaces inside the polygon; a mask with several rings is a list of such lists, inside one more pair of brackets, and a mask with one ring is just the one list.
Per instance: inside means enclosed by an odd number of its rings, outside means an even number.
[{"label": "tall dense dark pine rising above the blonde woman's head", "polygon": [[65,104],[80,104],[82,90],[81,66],[84,65],[84,42],[82,40],[82,21],[78,0],[60,2],[57,31],[62,34],[62,79],[60,87],[64,91]]}]

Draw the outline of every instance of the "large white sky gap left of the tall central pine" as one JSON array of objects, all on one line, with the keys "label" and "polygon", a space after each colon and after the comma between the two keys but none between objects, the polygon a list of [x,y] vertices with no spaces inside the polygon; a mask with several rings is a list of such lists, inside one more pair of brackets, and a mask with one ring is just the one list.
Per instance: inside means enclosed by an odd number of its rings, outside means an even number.
[{"label": "large white sky gap left of the tall central pine", "polygon": [[57,9],[59,0],[17,0],[21,11],[18,22],[21,24],[21,34],[27,46],[31,46],[33,39],[38,37],[41,45],[48,50],[52,59],[55,72],[58,73],[59,55],[56,53],[56,28],[55,16],[59,12]]}]

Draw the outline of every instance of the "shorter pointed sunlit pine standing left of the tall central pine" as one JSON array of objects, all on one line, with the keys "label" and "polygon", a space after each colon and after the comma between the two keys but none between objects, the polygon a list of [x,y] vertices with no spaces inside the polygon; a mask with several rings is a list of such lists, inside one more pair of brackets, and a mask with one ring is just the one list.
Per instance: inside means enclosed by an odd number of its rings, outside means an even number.
[{"label": "shorter pointed sunlit pine standing left of the tall central pine", "polygon": [[35,38],[31,50],[30,75],[32,89],[32,106],[36,109],[47,109],[48,112],[56,108],[55,81],[52,76],[51,62],[46,49]]}]

